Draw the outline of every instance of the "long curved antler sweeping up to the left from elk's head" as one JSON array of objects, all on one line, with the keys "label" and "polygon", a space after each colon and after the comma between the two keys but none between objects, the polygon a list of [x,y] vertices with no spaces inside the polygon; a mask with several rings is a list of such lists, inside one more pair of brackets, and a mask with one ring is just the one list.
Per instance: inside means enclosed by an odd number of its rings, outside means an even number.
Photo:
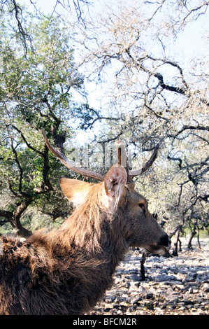
[{"label": "long curved antler sweeping up to the left from elk's head", "polygon": [[80,174],[80,175],[85,176],[85,177],[96,179],[97,181],[103,181],[104,180],[105,176],[103,174],[92,172],[92,170],[88,170],[88,169],[82,169],[82,168],[78,167],[77,165],[75,165],[75,162],[68,160],[63,153],[60,153],[59,151],[57,151],[50,144],[50,142],[48,141],[48,138],[46,137],[46,134],[45,134],[45,131],[43,130],[43,128],[41,129],[41,131],[42,131],[42,134],[43,134],[43,138],[45,140],[45,144],[48,146],[50,151],[52,151],[52,153],[54,153],[57,156],[57,158],[65,165],[65,167],[67,167],[68,169],[71,169],[76,174]]}]

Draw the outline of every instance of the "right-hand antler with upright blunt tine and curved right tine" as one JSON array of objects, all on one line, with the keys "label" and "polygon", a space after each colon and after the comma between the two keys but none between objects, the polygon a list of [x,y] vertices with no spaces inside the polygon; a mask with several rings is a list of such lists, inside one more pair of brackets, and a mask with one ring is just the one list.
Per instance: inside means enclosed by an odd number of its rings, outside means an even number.
[{"label": "right-hand antler with upright blunt tine and curved right tine", "polygon": [[148,160],[143,167],[138,167],[137,169],[129,170],[129,163],[127,161],[127,154],[124,144],[122,143],[122,141],[119,140],[115,142],[115,146],[118,154],[118,164],[127,169],[128,182],[133,181],[133,178],[135,176],[139,176],[143,174],[144,172],[147,171],[147,169],[149,169],[152,166],[152,163],[157,158],[157,151],[159,150],[159,143],[158,143],[157,146],[154,148],[154,152],[152,153],[150,160]]}]

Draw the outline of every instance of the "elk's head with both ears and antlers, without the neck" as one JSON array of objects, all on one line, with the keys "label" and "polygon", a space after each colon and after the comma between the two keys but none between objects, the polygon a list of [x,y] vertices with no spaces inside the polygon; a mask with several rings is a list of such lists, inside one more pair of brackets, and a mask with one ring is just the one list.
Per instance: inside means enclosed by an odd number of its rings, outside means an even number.
[{"label": "elk's head with both ears and antlers, without the neck", "polygon": [[[162,254],[169,250],[170,239],[161,229],[155,218],[148,211],[147,200],[136,192],[134,188],[134,177],[143,174],[151,167],[157,158],[159,144],[154,148],[150,160],[143,167],[129,170],[127,155],[122,141],[115,143],[118,153],[118,163],[110,167],[106,175],[82,169],[69,161],[64,153],[57,151],[48,141],[42,130],[45,144],[64,165],[73,172],[85,177],[91,177],[101,181],[103,189],[103,209],[113,213],[117,221],[120,221],[122,235],[129,246],[145,248],[151,253]],[[81,204],[87,199],[90,190],[95,188],[94,183],[87,183],[76,179],[59,179],[64,195],[73,203]],[[95,200],[97,202],[97,200]],[[117,235],[117,232],[115,232]]]}]

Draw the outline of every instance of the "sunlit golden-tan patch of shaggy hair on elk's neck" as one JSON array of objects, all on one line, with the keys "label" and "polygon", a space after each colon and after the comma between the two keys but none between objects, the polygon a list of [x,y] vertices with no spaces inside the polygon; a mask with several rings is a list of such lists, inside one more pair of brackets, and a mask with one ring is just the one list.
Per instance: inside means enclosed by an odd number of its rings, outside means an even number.
[{"label": "sunlit golden-tan patch of shaggy hair on elk's neck", "polygon": [[103,183],[89,188],[87,198],[78,206],[57,231],[62,244],[69,246],[75,244],[86,251],[99,251],[101,239],[106,234],[103,226],[106,221],[111,221],[113,215],[107,213]]}]

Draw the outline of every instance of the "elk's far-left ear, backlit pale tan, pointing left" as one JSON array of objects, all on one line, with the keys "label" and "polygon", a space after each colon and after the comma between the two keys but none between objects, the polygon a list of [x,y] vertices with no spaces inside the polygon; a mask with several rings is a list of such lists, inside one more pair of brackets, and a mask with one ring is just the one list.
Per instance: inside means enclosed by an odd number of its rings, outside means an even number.
[{"label": "elk's far-left ear, backlit pale tan, pointing left", "polygon": [[73,204],[78,205],[85,200],[89,187],[94,184],[87,183],[86,181],[79,181],[78,179],[60,177],[59,185],[67,199],[73,202]]}]

